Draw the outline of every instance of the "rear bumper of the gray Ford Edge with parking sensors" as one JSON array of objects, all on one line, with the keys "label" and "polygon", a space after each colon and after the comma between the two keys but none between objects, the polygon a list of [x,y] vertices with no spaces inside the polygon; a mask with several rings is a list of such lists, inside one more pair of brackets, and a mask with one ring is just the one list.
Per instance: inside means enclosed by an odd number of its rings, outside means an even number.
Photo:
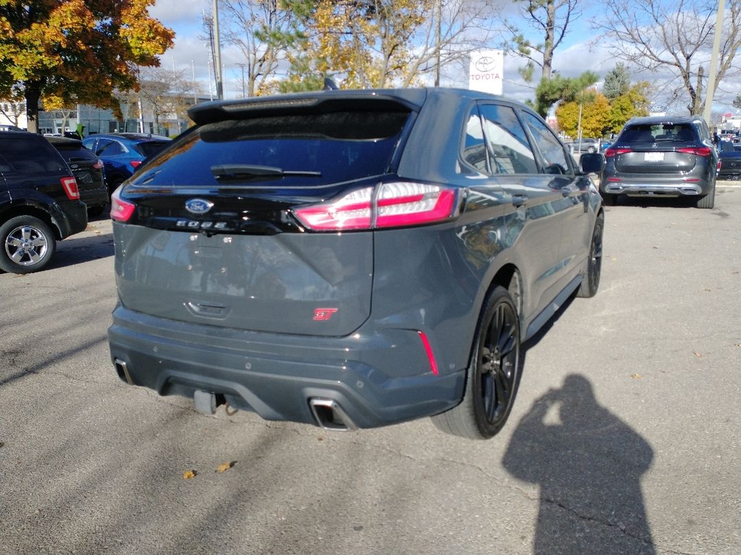
[{"label": "rear bumper of the gray Ford Edge with parking sensors", "polygon": [[463,370],[434,375],[410,330],[348,337],[248,333],[118,306],[108,340],[111,359],[119,368],[125,363],[122,380],[161,395],[222,394],[266,420],[319,424],[310,400],[322,399],[334,401],[359,428],[399,423],[452,408],[465,380]]}]

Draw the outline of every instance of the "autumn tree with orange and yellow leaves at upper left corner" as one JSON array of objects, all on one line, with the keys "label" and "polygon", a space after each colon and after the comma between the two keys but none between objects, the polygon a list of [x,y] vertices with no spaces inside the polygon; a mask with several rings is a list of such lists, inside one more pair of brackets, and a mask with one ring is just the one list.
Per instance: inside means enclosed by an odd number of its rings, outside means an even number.
[{"label": "autumn tree with orange and yellow leaves at upper left corner", "polygon": [[136,66],[159,66],[174,33],[154,0],[0,0],[0,98],[23,97],[28,130],[39,100],[119,111],[115,90],[138,87]]}]

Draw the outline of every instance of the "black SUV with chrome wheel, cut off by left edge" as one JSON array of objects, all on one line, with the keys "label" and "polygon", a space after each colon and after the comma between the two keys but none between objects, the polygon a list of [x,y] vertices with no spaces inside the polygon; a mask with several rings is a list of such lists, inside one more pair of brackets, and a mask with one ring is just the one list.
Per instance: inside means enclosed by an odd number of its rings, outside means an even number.
[{"label": "black SUV with chrome wheel, cut off by left edge", "polygon": [[49,263],[56,240],[87,226],[87,206],[59,152],[41,135],[0,132],[0,269],[27,274]]}]

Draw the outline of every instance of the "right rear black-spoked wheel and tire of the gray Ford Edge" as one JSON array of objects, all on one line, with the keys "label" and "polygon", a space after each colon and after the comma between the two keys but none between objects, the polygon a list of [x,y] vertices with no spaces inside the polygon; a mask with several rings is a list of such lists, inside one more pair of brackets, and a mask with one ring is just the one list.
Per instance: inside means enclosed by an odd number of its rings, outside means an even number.
[{"label": "right rear black-spoked wheel and tire of the gray Ford Edge", "polygon": [[519,386],[519,317],[512,296],[500,286],[484,303],[458,406],[432,417],[447,434],[488,440],[507,421]]}]

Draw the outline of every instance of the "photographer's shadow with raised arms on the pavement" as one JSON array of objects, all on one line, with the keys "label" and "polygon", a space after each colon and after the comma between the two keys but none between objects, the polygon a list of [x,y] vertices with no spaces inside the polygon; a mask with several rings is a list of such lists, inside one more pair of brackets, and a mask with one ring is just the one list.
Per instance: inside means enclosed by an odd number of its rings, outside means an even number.
[{"label": "photographer's shadow with raised arms on the pavement", "polygon": [[585,377],[571,374],[537,399],[503,461],[540,485],[534,554],[654,554],[640,486],[653,456]]}]

